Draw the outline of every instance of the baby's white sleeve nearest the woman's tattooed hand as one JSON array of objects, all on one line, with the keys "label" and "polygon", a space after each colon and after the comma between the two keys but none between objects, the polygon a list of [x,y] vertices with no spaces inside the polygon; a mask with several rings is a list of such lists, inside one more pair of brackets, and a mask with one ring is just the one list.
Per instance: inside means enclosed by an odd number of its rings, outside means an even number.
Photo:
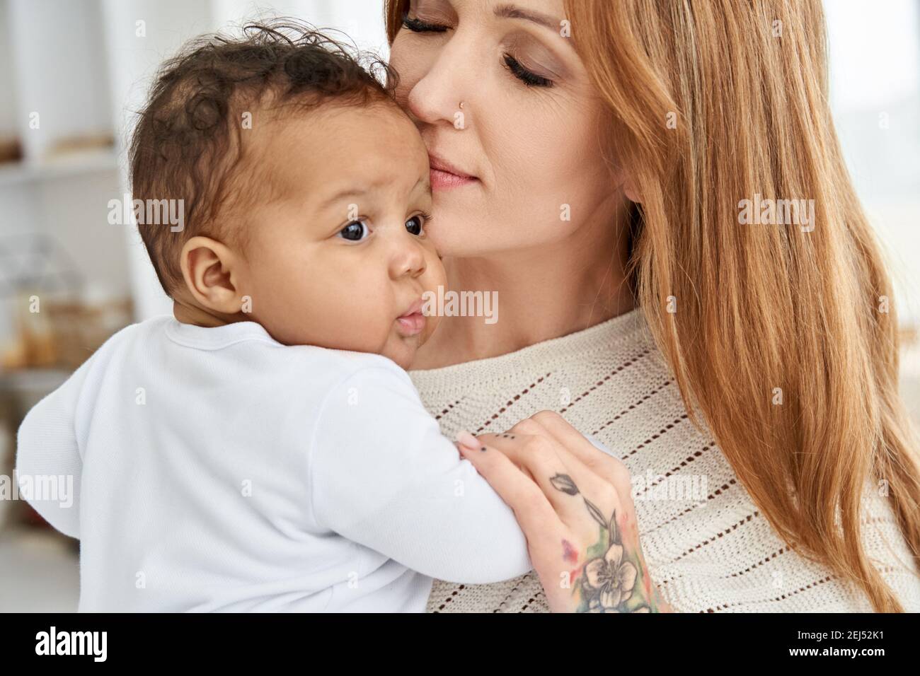
[{"label": "baby's white sleeve nearest the woman's tattooed hand", "polygon": [[432,578],[470,584],[531,569],[514,514],[462,460],[396,364],[329,391],[307,471],[321,526]]}]

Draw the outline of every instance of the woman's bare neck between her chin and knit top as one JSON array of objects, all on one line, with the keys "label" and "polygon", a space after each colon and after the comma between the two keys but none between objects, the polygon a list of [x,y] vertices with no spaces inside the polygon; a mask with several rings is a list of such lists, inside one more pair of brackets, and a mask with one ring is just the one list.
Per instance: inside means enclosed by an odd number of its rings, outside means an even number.
[{"label": "woman's bare neck between her chin and knit top", "polygon": [[447,290],[494,292],[495,319],[445,314],[410,369],[496,357],[632,310],[627,246],[626,228],[608,222],[546,246],[445,257]]}]

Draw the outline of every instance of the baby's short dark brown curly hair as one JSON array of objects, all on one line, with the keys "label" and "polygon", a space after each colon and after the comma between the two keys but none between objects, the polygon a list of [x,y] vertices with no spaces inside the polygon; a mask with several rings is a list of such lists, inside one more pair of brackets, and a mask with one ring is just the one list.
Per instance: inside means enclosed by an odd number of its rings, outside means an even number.
[{"label": "baby's short dark brown curly hair", "polygon": [[245,241],[245,228],[226,227],[226,216],[244,213],[271,189],[261,158],[245,143],[247,113],[252,120],[256,110],[395,105],[396,85],[396,74],[375,55],[290,19],[247,24],[238,38],[201,36],[164,63],[129,160],[134,200],[183,201],[180,232],[138,224],[167,295],[182,282],[185,242],[194,235]]}]

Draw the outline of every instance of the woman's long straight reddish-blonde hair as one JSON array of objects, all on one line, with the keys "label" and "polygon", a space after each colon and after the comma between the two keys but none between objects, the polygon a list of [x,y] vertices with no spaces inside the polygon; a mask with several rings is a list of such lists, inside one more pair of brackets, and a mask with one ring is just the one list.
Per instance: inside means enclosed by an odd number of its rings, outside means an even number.
[{"label": "woman's long straight reddish-blonde hair", "polygon": [[[406,5],[387,0],[391,41]],[[862,498],[885,482],[920,562],[920,461],[891,283],[831,120],[820,0],[566,9],[641,196],[630,274],[684,405],[787,544],[903,611],[864,549]],[[742,224],[756,195],[812,201],[814,222]]]}]

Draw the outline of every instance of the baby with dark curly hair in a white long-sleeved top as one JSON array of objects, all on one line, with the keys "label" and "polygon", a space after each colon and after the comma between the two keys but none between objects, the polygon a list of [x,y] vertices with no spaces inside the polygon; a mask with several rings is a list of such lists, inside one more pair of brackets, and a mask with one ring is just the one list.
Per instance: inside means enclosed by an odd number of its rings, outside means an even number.
[{"label": "baby with dark curly hair in a white long-sleeved top", "polygon": [[[30,501],[81,541],[80,611],[422,611],[431,578],[530,570],[404,370],[445,280],[388,82],[278,28],[164,65],[131,176],[174,316],[109,338],[18,433],[20,477],[73,477],[72,507]],[[181,229],[143,218],[163,200]]]}]

